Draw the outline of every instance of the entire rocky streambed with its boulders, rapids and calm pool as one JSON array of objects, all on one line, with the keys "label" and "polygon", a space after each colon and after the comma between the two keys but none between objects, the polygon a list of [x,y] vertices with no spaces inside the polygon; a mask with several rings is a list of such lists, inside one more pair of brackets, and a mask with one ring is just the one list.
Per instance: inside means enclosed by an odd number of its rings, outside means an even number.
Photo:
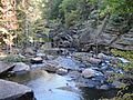
[{"label": "entire rocky streambed with its boulders, rapids and calm pool", "polygon": [[37,100],[113,98],[117,90],[129,86],[122,78],[115,78],[127,74],[115,67],[117,62],[129,63],[124,58],[52,49],[52,53],[37,52],[29,59],[30,63],[9,66],[4,79],[30,87]]}]

